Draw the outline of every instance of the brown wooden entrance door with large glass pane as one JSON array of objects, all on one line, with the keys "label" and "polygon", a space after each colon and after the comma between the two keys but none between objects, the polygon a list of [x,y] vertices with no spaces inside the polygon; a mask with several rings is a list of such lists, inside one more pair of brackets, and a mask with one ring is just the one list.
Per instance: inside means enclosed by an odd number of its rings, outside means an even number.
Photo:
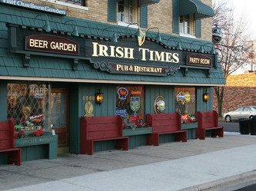
[{"label": "brown wooden entrance door with large glass pane", "polygon": [[52,88],[51,126],[58,135],[58,154],[69,153],[69,94],[68,89]]}]

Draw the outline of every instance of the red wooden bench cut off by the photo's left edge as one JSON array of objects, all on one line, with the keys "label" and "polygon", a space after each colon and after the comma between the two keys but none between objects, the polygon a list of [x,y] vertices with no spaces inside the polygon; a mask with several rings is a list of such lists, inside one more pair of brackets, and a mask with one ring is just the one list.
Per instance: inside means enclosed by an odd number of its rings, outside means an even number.
[{"label": "red wooden bench cut off by the photo's left edge", "polygon": [[21,166],[22,149],[15,148],[15,126],[11,120],[0,122],[0,153],[7,152],[7,163]]}]

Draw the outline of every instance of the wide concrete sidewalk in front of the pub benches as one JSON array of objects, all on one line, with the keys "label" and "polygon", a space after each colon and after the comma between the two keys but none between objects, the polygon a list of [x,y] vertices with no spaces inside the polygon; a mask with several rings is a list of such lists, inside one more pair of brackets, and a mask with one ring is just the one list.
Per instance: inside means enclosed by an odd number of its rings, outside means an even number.
[{"label": "wide concrete sidewalk in front of the pub benches", "polygon": [[224,133],[224,138],[2,165],[0,190],[228,190],[256,180],[255,161],[256,136]]}]

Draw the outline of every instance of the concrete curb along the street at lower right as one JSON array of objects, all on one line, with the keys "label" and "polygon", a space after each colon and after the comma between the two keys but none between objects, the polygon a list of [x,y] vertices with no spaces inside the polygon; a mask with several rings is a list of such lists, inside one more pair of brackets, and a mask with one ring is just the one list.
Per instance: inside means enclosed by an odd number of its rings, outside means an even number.
[{"label": "concrete curb along the street at lower right", "polygon": [[241,187],[251,185],[252,183],[255,183],[255,180],[256,170],[253,170],[247,173],[241,173],[224,179],[214,180],[209,183],[180,189],[178,191],[232,191],[234,189],[240,189]]}]

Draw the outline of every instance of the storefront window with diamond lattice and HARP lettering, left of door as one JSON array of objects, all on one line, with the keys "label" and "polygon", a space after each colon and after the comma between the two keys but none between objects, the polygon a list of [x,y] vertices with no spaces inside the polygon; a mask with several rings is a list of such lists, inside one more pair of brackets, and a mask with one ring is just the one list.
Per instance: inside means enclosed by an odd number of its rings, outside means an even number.
[{"label": "storefront window with diamond lattice and HARP lettering, left of door", "polygon": [[15,130],[49,130],[48,85],[8,84],[8,119]]}]

